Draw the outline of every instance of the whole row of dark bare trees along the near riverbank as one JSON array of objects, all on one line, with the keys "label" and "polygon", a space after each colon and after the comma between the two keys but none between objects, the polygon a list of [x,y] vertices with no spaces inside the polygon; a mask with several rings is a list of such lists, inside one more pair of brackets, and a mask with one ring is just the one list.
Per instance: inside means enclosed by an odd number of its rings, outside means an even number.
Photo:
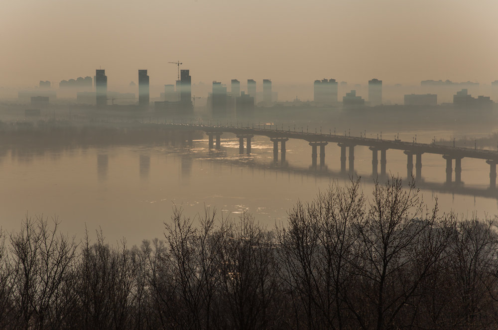
[{"label": "whole row of dark bare trees along the near riverbank", "polygon": [[498,327],[495,220],[429,210],[398,178],[333,185],[271,230],[176,209],[128,248],[57,224],[1,234],[1,329]]}]

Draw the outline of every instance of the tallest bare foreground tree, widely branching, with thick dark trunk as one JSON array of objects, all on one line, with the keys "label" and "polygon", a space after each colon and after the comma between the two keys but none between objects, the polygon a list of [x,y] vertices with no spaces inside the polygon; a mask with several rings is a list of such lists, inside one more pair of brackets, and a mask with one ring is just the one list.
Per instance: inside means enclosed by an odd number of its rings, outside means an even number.
[{"label": "tallest bare foreground tree, widely branching, with thick dark trunk", "polygon": [[413,320],[410,300],[448,244],[437,211],[437,201],[427,209],[413,181],[407,189],[397,177],[375,182],[368,214],[355,224],[359,290],[348,299],[362,329],[397,329]]}]

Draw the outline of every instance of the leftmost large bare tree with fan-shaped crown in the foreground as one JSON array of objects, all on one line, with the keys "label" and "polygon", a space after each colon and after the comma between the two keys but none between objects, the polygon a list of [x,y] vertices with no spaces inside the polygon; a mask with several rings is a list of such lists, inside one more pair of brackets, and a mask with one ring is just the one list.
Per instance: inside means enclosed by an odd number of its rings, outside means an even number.
[{"label": "leftmost large bare tree with fan-shaped crown in the foreground", "polygon": [[74,237],[53,229],[43,217],[26,218],[22,230],[10,235],[11,254],[16,267],[14,292],[21,327],[25,329],[57,328],[64,324],[61,313],[68,298],[63,289],[70,281],[77,245]]}]

